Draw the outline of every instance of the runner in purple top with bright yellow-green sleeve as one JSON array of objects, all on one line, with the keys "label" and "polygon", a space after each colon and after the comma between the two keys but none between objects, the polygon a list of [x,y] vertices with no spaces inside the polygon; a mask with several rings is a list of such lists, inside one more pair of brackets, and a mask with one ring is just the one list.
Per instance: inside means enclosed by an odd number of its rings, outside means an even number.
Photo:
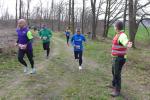
[{"label": "runner in purple top with bright yellow-green sleeve", "polygon": [[18,20],[18,26],[16,29],[18,40],[16,46],[18,46],[18,61],[24,65],[24,72],[28,73],[29,68],[27,63],[24,61],[25,54],[27,55],[29,62],[31,64],[31,72],[30,74],[35,73],[34,60],[33,60],[33,48],[32,48],[32,33],[27,27],[25,19]]}]

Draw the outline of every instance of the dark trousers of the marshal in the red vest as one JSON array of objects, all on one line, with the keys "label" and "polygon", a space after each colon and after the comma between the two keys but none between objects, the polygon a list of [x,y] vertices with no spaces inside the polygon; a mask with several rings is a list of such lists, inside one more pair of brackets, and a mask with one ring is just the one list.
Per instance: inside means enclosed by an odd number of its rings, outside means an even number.
[{"label": "dark trousers of the marshal in the red vest", "polygon": [[114,57],[112,60],[112,85],[120,91],[121,89],[121,71],[125,64],[126,59],[124,57]]}]

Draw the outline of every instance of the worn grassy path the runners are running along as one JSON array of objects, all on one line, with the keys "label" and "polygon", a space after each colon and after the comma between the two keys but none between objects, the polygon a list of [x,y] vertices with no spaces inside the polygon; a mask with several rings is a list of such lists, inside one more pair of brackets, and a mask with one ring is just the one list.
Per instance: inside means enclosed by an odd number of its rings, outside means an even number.
[{"label": "worn grassy path the runners are running along", "polygon": [[[130,81],[122,96],[112,98],[109,95],[111,90],[106,88],[111,80],[111,69],[106,67],[108,64],[99,63],[85,53],[84,69],[79,71],[71,47],[66,46],[65,39],[58,33],[53,37],[48,60],[39,43],[36,44],[35,54],[35,75],[24,75],[17,60],[12,61],[12,69],[2,69],[0,100],[149,100],[148,97],[139,99],[140,96],[136,97],[138,94],[126,94],[133,85],[129,84]],[[130,90],[136,93],[134,87]]]}]

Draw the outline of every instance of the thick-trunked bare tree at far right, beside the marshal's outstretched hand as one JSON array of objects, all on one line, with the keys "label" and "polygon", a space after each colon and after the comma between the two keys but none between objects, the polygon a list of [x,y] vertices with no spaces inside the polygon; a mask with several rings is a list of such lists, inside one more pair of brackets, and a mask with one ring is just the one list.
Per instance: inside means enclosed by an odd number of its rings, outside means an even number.
[{"label": "thick-trunked bare tree at far right, beside the marshal's outstretched hand", "polygon": [[[129,0],[129,36],[130,41],[133,42],[135,48],[135,36],[138,31],[140,23],[145,27],[143,20],[150,16],[150,13],[145,12],[144,8],[150,5],[150,1],[141,5],[138,0]],[[146,28],[147,30],[147,28]]]}]

